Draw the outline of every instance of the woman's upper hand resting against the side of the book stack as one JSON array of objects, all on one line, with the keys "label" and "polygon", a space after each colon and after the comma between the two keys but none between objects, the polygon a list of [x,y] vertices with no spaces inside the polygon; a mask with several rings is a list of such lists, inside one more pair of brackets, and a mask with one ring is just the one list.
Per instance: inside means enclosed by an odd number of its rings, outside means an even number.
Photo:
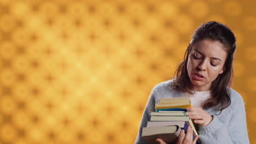
[{"label": "woman's upper hand resting against the side of the book stack", "polygon": [[202,107],[194,106],[188,108],[188,112],[185,113],[186,116],[191,119],[195,119],[194,122],[204,127],[212,122],[212,116],[205,112]]}]

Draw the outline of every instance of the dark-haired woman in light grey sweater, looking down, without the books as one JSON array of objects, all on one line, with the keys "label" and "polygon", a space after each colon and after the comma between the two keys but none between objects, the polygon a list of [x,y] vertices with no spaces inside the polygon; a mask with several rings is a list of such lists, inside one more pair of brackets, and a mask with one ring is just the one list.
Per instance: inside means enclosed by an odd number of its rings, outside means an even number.
[{"label": "dark-haired woman in light grey sweater, looking down, without the books", "polygon": [[[235,50],[235,36],[222,23],[211,21],[197,28],[174,79],[159,83],[150,93],[135,143],[146,143],[141,131],[155,103],[173,97],[190,98],[193,107],[186,115],[195,119],[201,143],[249,143],[242,97],[230,88]],[[189,128],[187,134],[181,131],[176,144],[192,144],[197,138],[193,141]]]}]

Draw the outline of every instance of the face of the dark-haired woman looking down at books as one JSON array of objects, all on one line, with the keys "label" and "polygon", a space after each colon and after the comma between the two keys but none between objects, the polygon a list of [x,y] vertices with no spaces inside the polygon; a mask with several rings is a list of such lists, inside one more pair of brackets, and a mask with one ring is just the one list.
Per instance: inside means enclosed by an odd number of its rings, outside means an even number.
[{"label": "face of the dark-haired woman looking down at books", "polygon": [[208,91],[224,71],[227,52],[219,41],[205,39],[192,46],[187,70],[194,91]]}]

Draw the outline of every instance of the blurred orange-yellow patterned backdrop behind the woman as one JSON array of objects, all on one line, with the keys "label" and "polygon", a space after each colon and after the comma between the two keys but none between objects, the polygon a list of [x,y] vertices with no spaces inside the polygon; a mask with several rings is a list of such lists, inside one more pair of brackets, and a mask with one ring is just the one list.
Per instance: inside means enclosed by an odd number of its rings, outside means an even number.
[{"label": "blurred orange-yellow patterned backdrop behind the woman", "polygon": [[152,88],[219,21],[237,38],[233,88],[255,144],[255,5],[0,0],[0,143],[133,143]]}]

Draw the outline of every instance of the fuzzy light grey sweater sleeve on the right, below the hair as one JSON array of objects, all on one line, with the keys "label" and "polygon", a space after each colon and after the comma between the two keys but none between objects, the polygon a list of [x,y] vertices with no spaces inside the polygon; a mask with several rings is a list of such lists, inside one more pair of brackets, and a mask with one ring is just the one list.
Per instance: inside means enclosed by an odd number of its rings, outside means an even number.
[{"label": "fuzzy light grey sweater sleeve on the right, below the hair", "polygon": [[[246,125],[245,105],[241,95],[236,93],[231,100],[230,111],[223,111],[221,115],[213,116],[213,120],[205,127],[200,127],[202,144],[211,143],[249,143]],[[223,119],[231,115],[230,121]]]}]

